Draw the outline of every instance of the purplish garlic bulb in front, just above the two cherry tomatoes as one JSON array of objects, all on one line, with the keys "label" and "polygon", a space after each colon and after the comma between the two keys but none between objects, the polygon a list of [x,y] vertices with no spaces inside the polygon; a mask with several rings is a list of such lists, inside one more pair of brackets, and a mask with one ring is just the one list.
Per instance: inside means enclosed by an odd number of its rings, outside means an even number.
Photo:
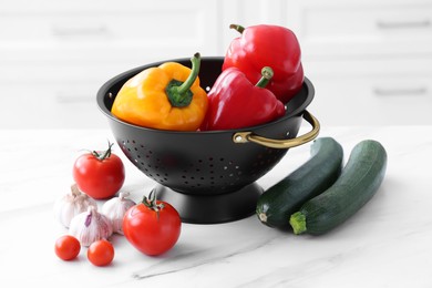
[{"label": "purplish garlic bulb in front, just above the two cherry tomatoes", "polygon": [[90,206],[88,212],[73,217],[69,234],[79,239],[82,246],[89,247],[96,240],[107,239],[113,234],[113,226],[96,207]]}]

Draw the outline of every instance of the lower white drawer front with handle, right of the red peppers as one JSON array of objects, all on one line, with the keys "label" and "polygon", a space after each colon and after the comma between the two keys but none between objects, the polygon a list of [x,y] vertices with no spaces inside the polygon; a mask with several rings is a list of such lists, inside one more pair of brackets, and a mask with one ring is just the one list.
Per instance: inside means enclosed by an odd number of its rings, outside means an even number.
[{"label": "lower white drawer front with handle, right of the red peppers", "polygon": [[432,61],[418,61],[315,62],[309,110],[322,125],[430,125]]}]

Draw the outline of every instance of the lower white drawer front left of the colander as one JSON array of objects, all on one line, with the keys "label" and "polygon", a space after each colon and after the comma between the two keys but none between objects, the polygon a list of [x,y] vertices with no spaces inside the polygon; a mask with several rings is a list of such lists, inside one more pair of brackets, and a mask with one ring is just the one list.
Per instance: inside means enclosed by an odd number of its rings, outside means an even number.
[{"label": "lower white drawer front left of the colander", "polygon": [[0,65],[0,128],[106,128],[96,93],[126,65]]}]

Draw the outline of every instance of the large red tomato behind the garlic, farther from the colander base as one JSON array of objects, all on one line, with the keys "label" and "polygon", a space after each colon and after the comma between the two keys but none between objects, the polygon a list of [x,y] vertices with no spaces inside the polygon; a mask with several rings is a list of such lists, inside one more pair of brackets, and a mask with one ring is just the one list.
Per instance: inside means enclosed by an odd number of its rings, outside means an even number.
[{"label": "large red tomato behind the garlic, farther from the colander base", "polygon": [[73,165],[73,178],[80,191],[95,199],[115,195],[123,186],[125,172],[122,160],[111,153],[113,144],[104,152],[79,156]]}]

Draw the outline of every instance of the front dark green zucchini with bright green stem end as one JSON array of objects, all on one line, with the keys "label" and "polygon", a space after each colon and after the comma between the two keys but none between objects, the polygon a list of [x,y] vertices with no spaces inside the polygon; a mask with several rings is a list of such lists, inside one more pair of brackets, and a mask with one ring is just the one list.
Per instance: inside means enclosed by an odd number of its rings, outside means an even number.
[{"label": "front dark green zucchini with bright green stem end", "polygon": [[387,152],[379,142],[358,143],[338,181],[291,215],[294,233],[320,235],[342,224],[377,193],[385,168]]}]

